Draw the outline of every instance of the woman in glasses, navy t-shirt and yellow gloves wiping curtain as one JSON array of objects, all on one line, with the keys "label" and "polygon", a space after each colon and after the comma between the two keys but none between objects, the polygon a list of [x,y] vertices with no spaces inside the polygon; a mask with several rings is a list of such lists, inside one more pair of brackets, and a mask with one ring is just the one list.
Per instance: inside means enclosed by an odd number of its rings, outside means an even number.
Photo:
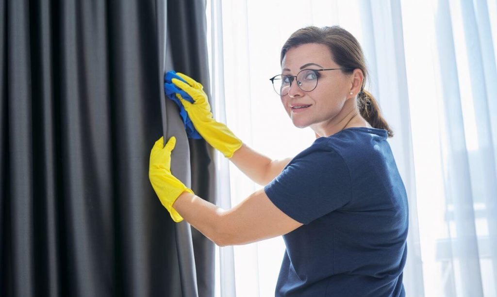
[{"label": "woman in glasses, navy t-shirt and yellow gloves wiping curtain", "polygon": [[338,26],[303,28],[283,46],[281,69],[271,81],[293,124],[319,137],[309,148],[275,161],[248,148],[213,120],[202,86],[180,74],[188,83],[173,83],[195,100],[179,98],[195,128],[264,188],[230,210],[202,200],[170,173],[171,137],[151,153],[156,193],[174,221],[219,246],[283,235],[276,296],[405,296],[407,195],[393,133],[364,90],[359,43]]}]

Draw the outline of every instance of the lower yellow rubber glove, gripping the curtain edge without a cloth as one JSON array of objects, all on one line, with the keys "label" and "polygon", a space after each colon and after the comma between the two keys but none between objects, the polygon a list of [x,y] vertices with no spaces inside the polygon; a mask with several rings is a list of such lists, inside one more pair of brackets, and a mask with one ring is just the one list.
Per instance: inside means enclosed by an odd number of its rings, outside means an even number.
[{"label": "lower yellow rubber glove, gripping the curtain edge without a cloth", "polygon": [[179,179],[171,173],[171,151],[176,145],[173,136],[164,147],[164,137],[161,137],[150,152],[149,178],[162,205],[167,209],[174,222],[183,221],[183,218],[172,208],[172,204],[184,191],[193,193]]}]

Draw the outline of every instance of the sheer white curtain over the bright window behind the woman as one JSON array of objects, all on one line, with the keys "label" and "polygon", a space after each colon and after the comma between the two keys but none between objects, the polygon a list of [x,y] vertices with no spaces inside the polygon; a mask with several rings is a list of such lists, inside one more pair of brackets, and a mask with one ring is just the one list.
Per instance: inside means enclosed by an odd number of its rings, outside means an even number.
[{"label": "sheer white curtain over the bright window behind the woman", "polygon": [[[307,25],[356,36],[409,195],[407,295],[497,296],[497,0],[210,0],[207,15],[214,114],[273,159],[315,139],[269,81],[284,41]],[[260,188],[216,161],[222,207]],[[217,295],[274,296],[284,248],[220,248]]]}]

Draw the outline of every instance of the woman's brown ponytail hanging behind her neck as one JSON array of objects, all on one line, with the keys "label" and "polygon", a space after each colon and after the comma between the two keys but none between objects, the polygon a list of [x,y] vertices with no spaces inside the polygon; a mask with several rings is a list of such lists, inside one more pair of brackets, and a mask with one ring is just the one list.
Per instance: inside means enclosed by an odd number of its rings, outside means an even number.
[{"label": "woman's brown ponytail hanging behind her neck", "polygon": [[357,107],[361,116],[368,121],[369,125],[373,128],[387,130],[388,137],[394,136],[394,132],[381,115],[378,101],[376,101],[370,92],[362,90],[357,94]]}]

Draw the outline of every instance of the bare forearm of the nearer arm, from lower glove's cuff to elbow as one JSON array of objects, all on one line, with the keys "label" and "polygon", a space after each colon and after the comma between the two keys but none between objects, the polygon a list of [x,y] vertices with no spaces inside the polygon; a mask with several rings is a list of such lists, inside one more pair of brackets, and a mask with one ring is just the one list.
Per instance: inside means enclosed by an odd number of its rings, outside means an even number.
[{"label": "bare forearm of the nearer arm, from lower glove's cuff to elbow", "polygon": [[179,195],[172,207],[205,237],[222,246],[222,232],[219,230],[225,213],[222,208],[188,192]]}]

